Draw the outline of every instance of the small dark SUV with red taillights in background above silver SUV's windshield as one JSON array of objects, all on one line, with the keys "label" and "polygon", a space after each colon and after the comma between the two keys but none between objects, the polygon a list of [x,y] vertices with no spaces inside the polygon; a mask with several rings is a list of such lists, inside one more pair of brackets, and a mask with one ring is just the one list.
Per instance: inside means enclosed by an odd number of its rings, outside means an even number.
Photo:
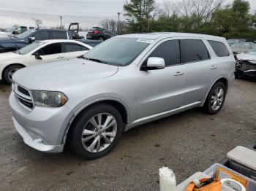
[{"label": "small dark SUV with red taillights in background above silver SUV's windshield", "polygon": [[105,41],[106,39],[110,39],[113,36],[116,36],[116,34],[112,31],[109,31],[108,29],[93,27],[86,35],[86,39]]}]

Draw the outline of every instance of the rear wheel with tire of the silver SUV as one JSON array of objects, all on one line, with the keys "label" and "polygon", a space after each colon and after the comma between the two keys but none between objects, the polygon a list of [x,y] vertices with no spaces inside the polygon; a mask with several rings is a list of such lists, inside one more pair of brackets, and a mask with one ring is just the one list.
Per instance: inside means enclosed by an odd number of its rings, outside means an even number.
[{"label": "rear wheel with tire of the silver SUV", "polygon": [[[222,92],[222,93],[221,93]],[[222,82],[217,82],[211,87],[204,104],[204,110],[208,114],[217,114],[225,102],[226,87]]]}]

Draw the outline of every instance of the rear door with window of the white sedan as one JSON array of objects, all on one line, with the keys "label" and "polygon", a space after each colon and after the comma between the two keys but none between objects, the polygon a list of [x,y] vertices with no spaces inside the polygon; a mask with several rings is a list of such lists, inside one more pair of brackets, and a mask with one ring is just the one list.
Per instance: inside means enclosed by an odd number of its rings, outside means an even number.
[{"label": "rear door with window of the white sedan", "polygon": [[85,54],[89,48],[77,43],[64,43],[65,58],[75,58]]}]

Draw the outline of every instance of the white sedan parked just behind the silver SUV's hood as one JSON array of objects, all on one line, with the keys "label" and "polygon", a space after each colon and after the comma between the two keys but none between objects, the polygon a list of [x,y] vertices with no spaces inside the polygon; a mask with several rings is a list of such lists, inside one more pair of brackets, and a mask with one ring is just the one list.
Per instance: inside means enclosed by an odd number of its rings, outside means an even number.
[{"label": "white sedan parked just behind the silver SUV's hood", "polygon": [[60,61],[83,55],[93,47],[74,40],[46,40],[34,42],[14,52],[0,54],[0,79],[12,83],[18,69],[37,64]]}]

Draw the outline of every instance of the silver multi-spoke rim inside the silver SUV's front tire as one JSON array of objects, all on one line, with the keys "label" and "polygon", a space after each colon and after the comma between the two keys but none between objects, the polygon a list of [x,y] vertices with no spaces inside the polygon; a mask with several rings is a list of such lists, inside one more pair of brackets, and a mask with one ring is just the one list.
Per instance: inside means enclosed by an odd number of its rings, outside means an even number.
[{"label": "silver multi-spoke rim inside the silver SUV's front tire", "polygon": [[89,152],[101,152],[108,148],[116,137],[117,122],[112,114],[100,113],[91,117],[83,128],[81,141]]}]

